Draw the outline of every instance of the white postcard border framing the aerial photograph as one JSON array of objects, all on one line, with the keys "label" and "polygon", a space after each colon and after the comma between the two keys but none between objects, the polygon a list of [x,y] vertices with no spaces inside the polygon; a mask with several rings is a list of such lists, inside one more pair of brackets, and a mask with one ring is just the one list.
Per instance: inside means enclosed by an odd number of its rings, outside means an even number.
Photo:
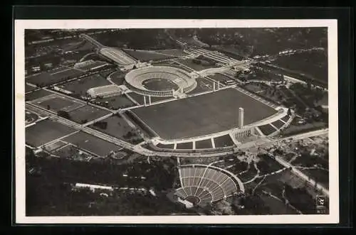
[{"label": "white postcard border framing the aerial photograph", "polygon": [[[15,75],[15,211],[18,224],[325,224],[339,222],[337,20],[16,20],[14,24]],[[330,214],[234,216],[133,217],[26,217],[25,205],[25,28],[271,28],[328,27],[329,191]]]}]

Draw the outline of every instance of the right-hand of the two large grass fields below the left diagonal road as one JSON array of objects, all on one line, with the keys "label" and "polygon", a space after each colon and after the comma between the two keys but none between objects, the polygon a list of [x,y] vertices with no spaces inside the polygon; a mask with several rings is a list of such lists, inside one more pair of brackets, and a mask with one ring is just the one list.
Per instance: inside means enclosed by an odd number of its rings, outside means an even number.
[{"label": "right-hand of the two large grass fields below the left diagonal road", "polygon": [[117,151],[121,148],[120,146],[116,146],[113,143],[103,141],[100,138],[91,136],[90,134],[81,131],[73,134],[72,136],[64,138],[63,141],[73,143],[73,145],[77,146],[78,148],[82,148],[83,150],[95,153],[96,155],[100,156],[108,155],[110,151]]}]

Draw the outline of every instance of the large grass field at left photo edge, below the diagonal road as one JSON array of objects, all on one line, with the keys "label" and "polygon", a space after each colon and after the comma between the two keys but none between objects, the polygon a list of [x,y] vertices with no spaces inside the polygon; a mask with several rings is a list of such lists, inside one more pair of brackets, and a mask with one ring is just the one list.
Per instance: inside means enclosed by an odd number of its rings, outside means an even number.
[{"label": "large grass field at left photo edge, below the diagonal road", "polygon": [[46,119],[26,128],[26,143],[38,147],[74,131],[69,126]]}]

